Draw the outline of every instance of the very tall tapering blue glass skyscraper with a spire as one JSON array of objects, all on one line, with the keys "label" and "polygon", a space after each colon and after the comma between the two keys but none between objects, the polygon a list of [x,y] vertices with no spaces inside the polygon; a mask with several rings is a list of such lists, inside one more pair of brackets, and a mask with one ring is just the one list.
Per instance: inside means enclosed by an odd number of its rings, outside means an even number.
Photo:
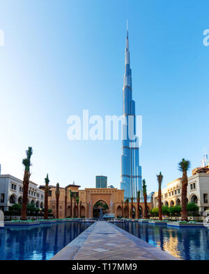
[{"label": "very tall tapering blue glass skyscraper with a spire", "polygon": [[123,143],[121,156],[121,189],[124,198],[137,198],[141,191],[141,166],[139,166],[139,139],[136,136],[135,102],[132,99],[132,70],[128,29],[125,45],[125,74],[123,83]]}]

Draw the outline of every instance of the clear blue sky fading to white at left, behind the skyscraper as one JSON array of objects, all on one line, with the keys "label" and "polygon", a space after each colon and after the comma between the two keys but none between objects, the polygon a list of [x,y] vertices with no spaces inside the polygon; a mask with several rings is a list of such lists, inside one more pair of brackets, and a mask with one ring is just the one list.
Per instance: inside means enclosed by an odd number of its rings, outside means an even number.
[{"label": "clear blue sky fading to white at left, behind the skyscraper", "polygon": [[148,191],[180,177],[183,157],[199,166],[208,146],[208,1],[0,1],[0,163],[31,180],[120,186],[121,141],[70,141],[67,118],[121,115],[126,19],[133,97],[143,115],[140,163]]}]

